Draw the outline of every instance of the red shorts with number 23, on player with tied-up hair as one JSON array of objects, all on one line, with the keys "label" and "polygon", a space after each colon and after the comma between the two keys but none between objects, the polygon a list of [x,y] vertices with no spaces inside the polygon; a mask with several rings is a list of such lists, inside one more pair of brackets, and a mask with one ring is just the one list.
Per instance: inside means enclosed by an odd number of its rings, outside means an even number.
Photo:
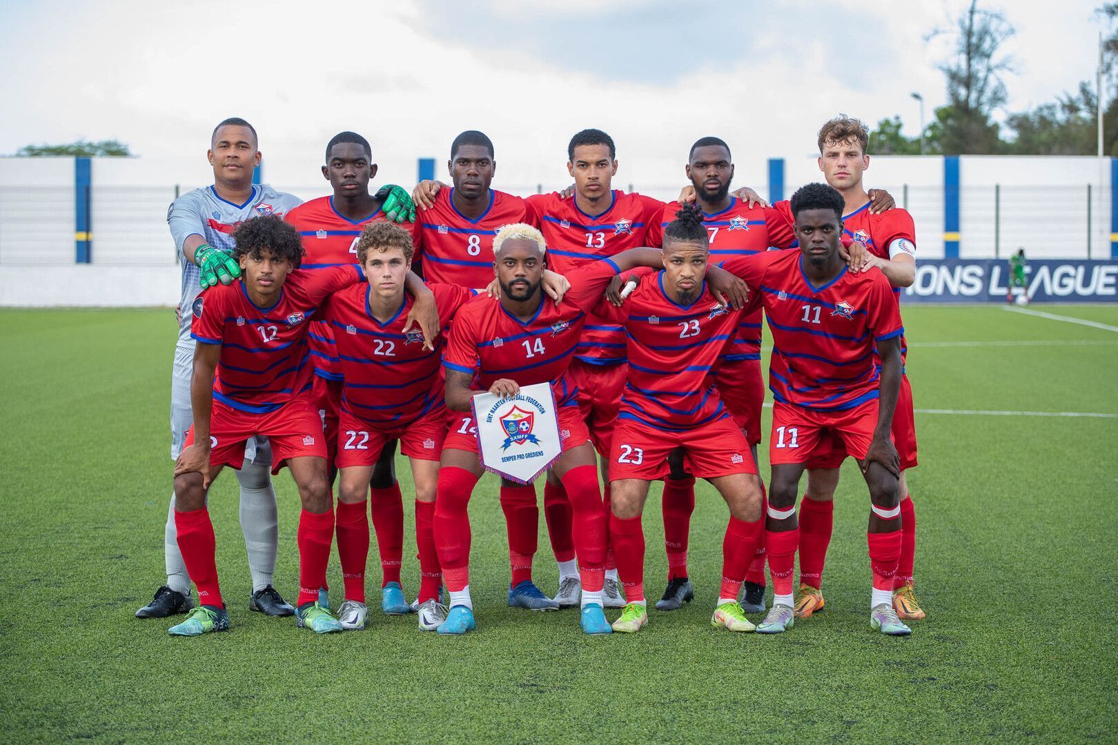
[{"label": "red shorts with number 23, on player with tied-up hair", "polygon": [[675,448],[683,448],[688,470],[699,478],[757,472],[749,442],[731,417],[682,432],[618,419],[609,455],[609,480],[661,479],[667,475],[667,453]]}]

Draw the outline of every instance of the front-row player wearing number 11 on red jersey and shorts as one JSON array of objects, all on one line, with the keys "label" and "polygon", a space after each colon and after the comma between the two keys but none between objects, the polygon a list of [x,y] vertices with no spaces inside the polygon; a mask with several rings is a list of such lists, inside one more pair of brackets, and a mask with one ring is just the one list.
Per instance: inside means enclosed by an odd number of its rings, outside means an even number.
[{"label": "front-row player wearing number 11 on red jersey and shorts", "polygon": [[722,265],[760,294],[773,333],[773,474],[766,524],[773,609],[757,627],[761,633],[793,625],[799,478],[816,448],[830,447],[832,436],[858,459],[870,490],[870,623],[885,634],[910,633],[892,605],[902,517],[891,429],[904,328],[885,275],[850,271],[840,256],[844,210],[837,190],[808,184],[792,198],[799,251],[769,251]]}]

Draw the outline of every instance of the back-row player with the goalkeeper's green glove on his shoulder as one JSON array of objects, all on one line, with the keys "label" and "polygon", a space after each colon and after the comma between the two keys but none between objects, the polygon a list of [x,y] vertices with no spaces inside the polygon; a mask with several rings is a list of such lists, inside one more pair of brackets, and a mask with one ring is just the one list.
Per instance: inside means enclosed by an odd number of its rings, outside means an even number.
[{"label": "back-row player with the goalkeeper's green glove on his shoulder", "polygon": [[[369,225],[385,221],[415,221],[415,208],[404,189],[388,184],[376,194],[369,192],[369,182],[377,175],[377,164],[372,162],[369,141],[356,132],[340,132],[326,143],[322,175],[330,182],[333,194],[296,207],[286,217],[303,238],[304,269],[353,264],[357,260],[358,238],[361,230]],[[311,322],[309,341],[311,360],[314,362],[314,395],[323,418],[328,460],[333,481],[338,456],[341,363],[338,360],[334,333],[324,321]],[[370,479],[369,504],[372,525],[377,532],[377,548],[380,553],[380,608],[385,613],[402,614],[410,608],[400,585],[404,555],[404,497],[396,481],[396,441],[389,438],[382,450],[373,455],[379,455],[379,459]],[[363,498],[361,504],[364,504]],[[352,515],[352,509],[348,509],[347,515]],[[368,527],[367,522],[364,525]],[[339,523],[339,529],[344,529],[342,523]],[[363,591],[361,598],[363,605]],[[347,610],[353,611],[353,608],[351,605]],[[356,622],[345,613],[341,613],[341,617],[343,625],[348,627]]]}]

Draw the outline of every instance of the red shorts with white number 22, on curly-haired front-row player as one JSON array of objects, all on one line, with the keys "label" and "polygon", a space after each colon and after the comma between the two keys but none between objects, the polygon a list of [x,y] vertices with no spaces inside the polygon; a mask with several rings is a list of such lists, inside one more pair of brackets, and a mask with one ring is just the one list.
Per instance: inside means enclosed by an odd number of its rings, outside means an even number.
[{"label": "red shorts with white number 22, on curly-haired front-row player", "polygon": [[378,429],[342,411],[338,424],[338,467],[373,466],[389,440],[400,441],[400,452],[418,460],[438,460],[446,439],[446,408],[439,404],[410,424]]}]

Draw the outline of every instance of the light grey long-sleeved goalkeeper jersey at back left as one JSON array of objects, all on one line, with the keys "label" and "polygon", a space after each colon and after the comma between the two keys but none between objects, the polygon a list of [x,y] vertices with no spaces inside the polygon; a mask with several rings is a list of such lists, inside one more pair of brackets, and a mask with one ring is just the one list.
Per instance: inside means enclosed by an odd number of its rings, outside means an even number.
[{"label": "light grey long-sleeved goalkeeper jersey at back left", "polygon": [[182,295],[179,298],[182,322],[179,324],[179,346],[195,347],[195,342],[190,338],[190,319],[193,317],[190,306],[201,292],[198,267],[187,260],[182,252],[182,245],[187,238],[201,236],[215,248],[233,250],[233,231],[238,225],[260,214],[283,217],[301,203],[302,200],[297,197],[276,191],[267,184],[253,185],[253,195],[244,204],[227,202],[217,195],[214,187],[188,191],[171,202],[167,211],[167,223],[171,228],[174,249],[179,254],[179,265],[182,267]]}]

